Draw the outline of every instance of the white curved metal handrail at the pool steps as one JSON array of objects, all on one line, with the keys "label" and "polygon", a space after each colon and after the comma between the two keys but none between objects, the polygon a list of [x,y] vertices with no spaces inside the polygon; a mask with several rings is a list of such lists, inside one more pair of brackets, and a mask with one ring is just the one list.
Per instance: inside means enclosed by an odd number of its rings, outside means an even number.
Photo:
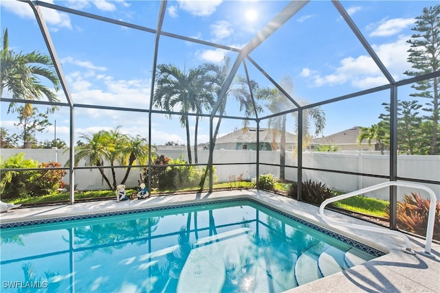
[{"label": "white curved metal handrail at the pool steps", "polygon": [[437,198],[436,198],[436,196],[434,194],[434,191],[432,191],[432,189],[430,189],[429,187],[427,187],[425,185],[420,185],[420,184],[416,184],[416,183],[404,183],[404,182],[397,182],[397,181],[387,181],[387,182],[384,182],[384,183],[380,183],[380,184],[377,184],[377,185],[373,185],[373,186],[370,186],[370,187],[359,189],[357,191],[352,191],[352,192],[349,192],[348,194],[342,194],[341,196],[335,196],[334,198],[329,198],[329,199],[324,200],[322,202],[322,204],[319,207],[320,217],[327,224],[333,224],[333,225],[344,226],[344,227],[351,227],[351,228],[359,228],[359,229],[367,230],[367,231],[377,231],[377,232],[380,232],[380,233],[386,233],[386,234],[390,234],[390,235],[397,235],[397,236],[403,237],[405,239],[405,242],[406,242],[406,248],[404,248],[403,250],[406,253],[414,254],[414,252],[412,251],[412,248],[411,248],[410,239],[404,233],[401,233],[401,232],[395,231],[395,230],[384,230],[383,228],[376,228],[376,227],[370,227],[370,226],[362,226],[362,225],[358,225],[358,224],[336,222],[336,221],[330,220],[324,214],[325,207],[327,206],[327,204],[330,204],[331,202],[336,202],[338,200],[344,200],[345,198],[351,198],[352,196],[358,196],[360,194],[364,194],[364,193],[369,192],[369,191],[373,191],[373,190],[377,190],[377,189],[382,189],[384,187],[390,187],[390,186],[418,188],[418,189],[423,189],[425,191],[428,191],[428,194],[430,195],[430,200],[431,201],[430,201],[430,207],[429,207],[429,213],[428,213],[428,226],[426,228],[426,244],[425,244],[424,254],[429,256],[429,257],[432,257],[432,255],[431,255],[431,246],[432,246],[432,235],[434,233],[434,217],[435,217],[435,206],[437,204]]}]

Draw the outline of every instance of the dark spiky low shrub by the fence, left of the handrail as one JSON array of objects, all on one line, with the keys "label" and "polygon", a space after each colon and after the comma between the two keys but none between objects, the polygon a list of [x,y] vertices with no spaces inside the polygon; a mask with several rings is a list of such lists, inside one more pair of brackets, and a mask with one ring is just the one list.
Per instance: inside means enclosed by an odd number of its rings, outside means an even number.
[{"label": "dark spiky low shrub by the fence, left of the handrail", "polygon": [[[313,204],[321,204],[327,198],[333,197],[333,191],[325,183],[315,182],[310,179],[303,182],[302,191],[303,200]],[[291,183],[287,192],[291,198],[297,198],[298,183]]]}]

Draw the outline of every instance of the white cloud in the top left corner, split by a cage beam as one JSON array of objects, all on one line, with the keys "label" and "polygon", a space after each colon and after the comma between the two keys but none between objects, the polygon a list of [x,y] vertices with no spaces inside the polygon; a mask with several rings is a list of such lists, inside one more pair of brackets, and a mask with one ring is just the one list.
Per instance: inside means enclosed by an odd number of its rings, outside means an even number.
[{"label": "white cloud in the top left corner, split by a cage beam", "polygon": [[[53,3],[53,1],[45,2]],[[1,1],[1,9],[8,10],[19,16],[21,19],[35,19],[34,12],[32,12],[32,9],[28,3],[19,1]],[[41,8],[41,11],[43,12],[43,19],[46,21],[51,30],[58,31],[63,27],[72,29],[68,14],[44,7]]]}]

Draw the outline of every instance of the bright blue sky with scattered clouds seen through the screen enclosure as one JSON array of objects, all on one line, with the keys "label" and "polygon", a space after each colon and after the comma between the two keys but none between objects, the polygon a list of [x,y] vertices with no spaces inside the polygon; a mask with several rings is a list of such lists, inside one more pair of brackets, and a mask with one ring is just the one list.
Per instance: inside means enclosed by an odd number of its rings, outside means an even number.
[{"label": "bright blue sky with scattered clouds seen through the screen enclosure", "polygon": [[[46,1],[91,14],[142,25],[155,30],[159,1]],[[168,1],[162,30],[189,38],[229,47],[242,48],[288,1]],[[375,49],[395,80],[406,78],[410,69],[408,40],[415,27],[415,16],[436,1],[341,1],[366,40]],[[74,14],[41,8],[50,30],[56,53],[63,67],[67,88],[75,104],[149,108],[155,36],[148,32],[102,23]],[[28,53],[47,48],[34,15],[27,3],[0,2],[1,32],[8,28],[10,49]],[[170,63],[182,71],[204,62],[221,62],[223,56],[236,53],[206,45],[162,36],[157,63]],[[311,1],[283,27],[250,54],[276,82],[289,77],[294,83],[292,96],[307,103],[320,102],[347,93],[386,84],[386,79],[331,1]],[[259,86],[271,83],[251,62],[246,62],[250,78]],[[244,74],[241,67],[239,74]],[[42,80],[43,83],[46,81]],[[408,99],[409,86],[399,89],[399,99]],[[66,98],[58,93],[62,102]],[[3,93],[8,97],[8,93]],[[353,126],[371,126],[384,113],[382,102],[389,102],[389,91],[322,106],[327,123],[325,135]],[[8,104],[1,103],[1,126],[17,132],[15,114],[6,114]],[[241,116],[238,104],[228,99],[227,115]],[[39,107],[41,111],[45,107]],[[178,109],[176,109],[178,110]],[[206,112],[208,113],[208,112]],[[259,115],[269,115],[267,109]],[[50,115],[56,121],[56,137],[68,142],[69,110],[61,108]],[[194,119],[191,119],[191,130]],[[294,132],[289,117],[289,131]],[[148,137],[148,115],[76,108],[75,133],[90,134],[122,126],[121,131]],[[209,140],[208,119],[203,118],[198,141]],[[255,126],[255,124],[251,124]],[[261,127],[267,126],[263,121]],[[153,115],[154,144],[167,141],[185,143],[184,128],[178,117],[167,119]],[[221,134],[241,128],[241,120],[223,119]],[[54,138],[54,126],[39,134],[40,140]]]}]

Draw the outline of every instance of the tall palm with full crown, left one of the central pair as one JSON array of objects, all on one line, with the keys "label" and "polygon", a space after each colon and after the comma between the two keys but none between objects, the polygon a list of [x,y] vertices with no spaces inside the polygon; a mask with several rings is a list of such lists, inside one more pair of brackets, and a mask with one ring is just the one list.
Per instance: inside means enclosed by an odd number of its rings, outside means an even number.
[{"label": "tall palm with full crown, left one of the central pair", "polygon": [[[173,111],[179,107],[182,113],[180,124],[186,128],[186,148],[188,150],[188,163],[192,163],[190,126],[188,113],[199,113],[200,102],[207,96],[204,89],[203,67],[190,69],[188,75],[170,64],[157,65],[156,89],[153,95],[153,104],[166,111]],[[168,115],[171,118],[171,115]]]}]

